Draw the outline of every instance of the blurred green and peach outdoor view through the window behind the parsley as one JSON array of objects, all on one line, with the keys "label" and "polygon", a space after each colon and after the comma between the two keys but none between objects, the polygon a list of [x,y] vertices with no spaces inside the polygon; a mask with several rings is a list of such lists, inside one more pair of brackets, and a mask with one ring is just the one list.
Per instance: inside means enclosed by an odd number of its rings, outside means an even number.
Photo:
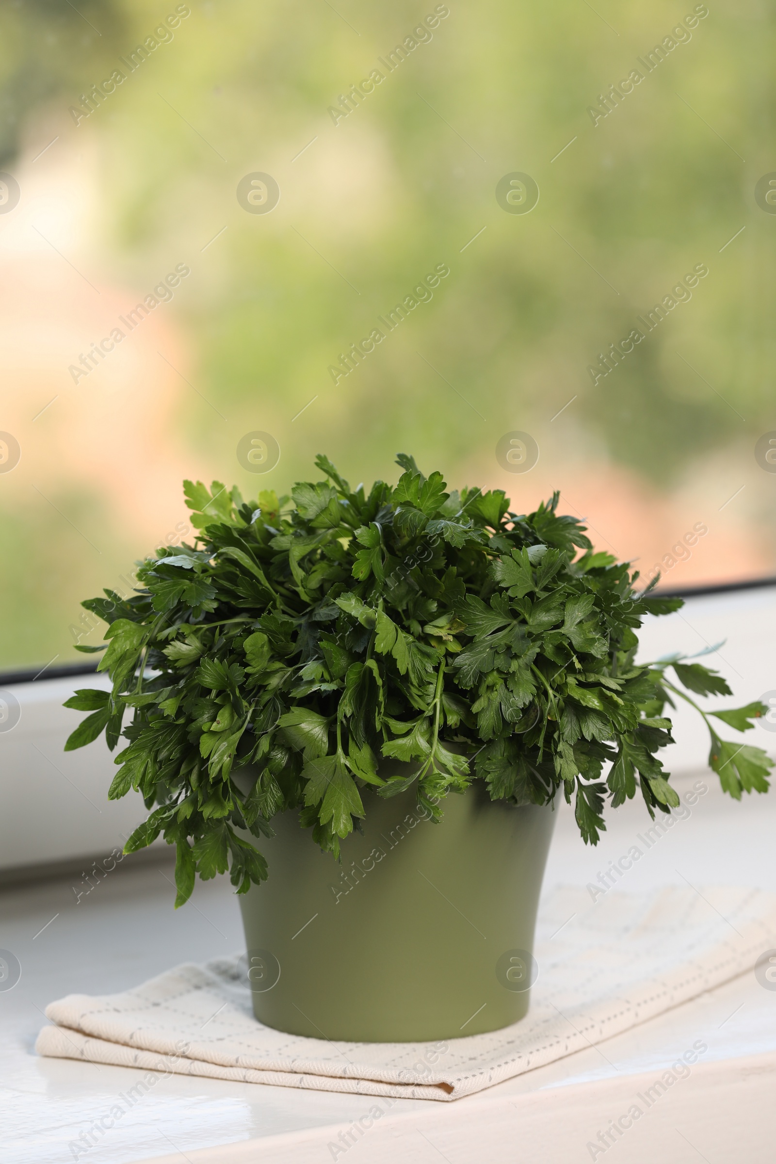
[{"label": "blurred green and peach outdoor view through the window behind the parsley", "polygon": [[[0,166],[21,191],[0,214],[0,430],[22,452],[0,474],[0,666],[100,641],[78,602],[185,527],[181,476],[287,491],[319,450],[356,481],[412,452],[520,509],[561,488],[600,548],[667,585],[774,573],[776,475],[754,453],[776,428],[776,217],[755,199],[776,170],[771,6],[19,0],[0,23]],[[271,213],[237,200],[254,172],[279,185]],[[531,213],[497,201],[512,172],[539,186]],[[334,383],[439,263],[433,299]],[[73,383],[176,264],[175,299]],[[692,298],[593,383],[696,264]],[[235,453],[256,430],[282,450],[264,475]],[[539,443],[531,474],[494,455],[511,431]],[[700,551],[671,555],[698,521]]]}]

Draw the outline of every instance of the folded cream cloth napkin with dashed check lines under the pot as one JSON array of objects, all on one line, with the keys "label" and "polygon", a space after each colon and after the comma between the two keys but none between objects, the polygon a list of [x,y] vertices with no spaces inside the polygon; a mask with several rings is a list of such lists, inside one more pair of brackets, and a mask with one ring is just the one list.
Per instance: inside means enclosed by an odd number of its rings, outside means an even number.
[{"label": "folded cream cloth napkin with dashed check lines under the pot", "polygon": [[[619,1035],[753,973],[776,945],[776,895],[743,888],[561,888],[541,907],[526,1018],[442,1043],[333,1043],[252,1015],[237,958],[183,965],[121,994],[51,1002],[40,1055],[319,1091],[453,1100]],[[148,1080],[150,1079],[150,1084]]]}]

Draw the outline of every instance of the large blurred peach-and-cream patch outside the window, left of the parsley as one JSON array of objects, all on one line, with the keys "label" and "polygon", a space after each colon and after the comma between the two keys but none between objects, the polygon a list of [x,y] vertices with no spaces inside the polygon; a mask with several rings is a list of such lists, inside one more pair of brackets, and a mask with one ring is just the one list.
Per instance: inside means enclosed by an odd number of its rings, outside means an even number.
[{"label": "large blurred peach-and-cream patch outside the window, left of the parsley", "polygon": [[[62,492],[97,497],[140,555],[185,514],[180,482],[194,470],[176,424],[192,389],[175,292],[130,331],[127,314],[151,286],[120,285],[95,261],[88,155],[63,161],[52,150],[17,172],[29,193],[17,215],[0,218],[0,347],[1,427],[21,460],[3,494],[22,511],[58,504]],[[70,367],[114,328],[124,339],[76,382]]]}]

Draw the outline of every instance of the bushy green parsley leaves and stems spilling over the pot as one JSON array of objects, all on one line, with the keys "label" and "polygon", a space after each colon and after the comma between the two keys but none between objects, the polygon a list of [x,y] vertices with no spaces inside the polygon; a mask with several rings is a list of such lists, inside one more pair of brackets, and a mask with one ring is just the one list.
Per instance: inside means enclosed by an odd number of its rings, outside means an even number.
[{"label": "bushy green parsley leaves and stems spilling over the pot", "polygon": [[[237,893],[266,878],[248,838],[272,836],[277,812],[339,857],[365,789],[414,787],[436,821],[475,780],[514,805],[562,792],[596,844],[606,801],[678,805],[656,754],[677,696],[709,725],[725,792],[768,790],[767,754],[721,739],[686,694],[729,695],[720,675],[682,655],[635,662],[645,616],[682,599],[638,592],[557,494],[518,514],[500,490],[447,492],[404,454],[398,484],[369,494],[315,463],[325,480],[292,498],[186,482],[194,545],[142,562],[130,597],[83,603],[108,623],[98,669],[113,687],[67,701],[91,715],[66,748],[124,738],[108,795],[136,789],[152,809],[124,851],[159,833],[177,846],[176,906],[197,873],[229,868]],[[746,731],[766,710],[712,715]]]}]

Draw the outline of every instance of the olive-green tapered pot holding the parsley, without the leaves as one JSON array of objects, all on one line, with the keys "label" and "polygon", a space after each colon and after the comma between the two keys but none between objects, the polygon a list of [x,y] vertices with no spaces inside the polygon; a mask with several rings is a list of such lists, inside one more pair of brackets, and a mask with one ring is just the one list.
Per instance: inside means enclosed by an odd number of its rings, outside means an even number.
[{"label": "olive-green tapered pot holding the parsley, without the leaves", "polygon": [[426,819],[414,790],[365,792],[342,864],[297,811],[258,843],[270,875],[240,897],[259,1022],[349,1042],[426,1042],[522,1018],[555,816],[477,782]]}]

